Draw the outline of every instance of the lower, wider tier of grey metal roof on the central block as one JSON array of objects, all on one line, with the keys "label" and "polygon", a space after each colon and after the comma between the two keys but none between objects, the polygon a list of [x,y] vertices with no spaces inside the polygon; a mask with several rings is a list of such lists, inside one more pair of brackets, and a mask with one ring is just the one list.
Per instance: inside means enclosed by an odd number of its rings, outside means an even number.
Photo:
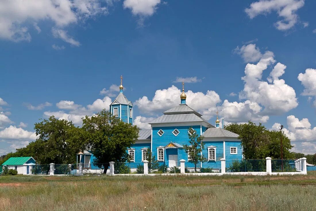
[{"label": "lower, wider tier of grey metal roof on the central block", "polygon": [[[171,122],[195,122],[195,121],[205,121],[202,117],[191,113],[191,114],[168,114],[168,115],[162,115],[153,121],[149,122],[149,124],[154,123],[171,123]],[[207,122],[208,123],[208,122]],[[208,123],[210,124],[210,123]]]}]

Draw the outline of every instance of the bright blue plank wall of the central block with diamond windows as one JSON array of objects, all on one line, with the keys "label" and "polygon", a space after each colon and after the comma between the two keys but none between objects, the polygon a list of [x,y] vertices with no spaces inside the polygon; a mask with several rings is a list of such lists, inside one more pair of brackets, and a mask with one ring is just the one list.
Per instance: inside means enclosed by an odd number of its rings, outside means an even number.
[{"label": "bright blue plank wall of the central block with diamond windows", "polygon": [[[180,145],[189,144],[189,137],[188,137],[188,129],[192,127],[194,130],[197,131],[197,134],[200,135],[200,125],[195,126],[172,126],[172,127],[153,127],[153,143],[152,143],[152,152],[155,158],[157,159],[157,147],[160,146],[167,146],[170,142],[178,143]],[[159,130],[163,130],[164,133],[160,137],[157,132]],[[179,134],[177,136],[174,136],[172,133],[174,129],[179,130]],[[170,150],[170,149],[169,149]],[[186,157],[186,158],[185,158]],[[178,160],[185,159],[187,160],[187,154],[182,149],[178,149]],[[165,161],[168,160],[168,155],[165,151]]]}]

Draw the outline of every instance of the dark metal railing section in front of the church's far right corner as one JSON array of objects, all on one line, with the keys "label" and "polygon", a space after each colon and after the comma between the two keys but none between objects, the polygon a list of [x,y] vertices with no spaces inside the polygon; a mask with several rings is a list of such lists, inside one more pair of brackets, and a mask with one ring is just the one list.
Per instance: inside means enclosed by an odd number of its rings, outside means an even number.
[{"label": "dark metal railing section in front of the church's far right corner", "polygon": [[265,172],[265,159],[226,160],[226,172]]}]

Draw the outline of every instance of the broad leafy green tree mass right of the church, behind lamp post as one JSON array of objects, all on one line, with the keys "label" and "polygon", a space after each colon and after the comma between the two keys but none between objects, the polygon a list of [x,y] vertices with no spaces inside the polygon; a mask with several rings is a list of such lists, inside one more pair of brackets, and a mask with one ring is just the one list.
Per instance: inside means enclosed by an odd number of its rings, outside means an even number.
[{"label": "broad leafy green tree mass right of the church, behind lamp post", "polygon": [[[239,135],[246,159],[281,158],[280,131],[267,130],[261,123],[248,121],[246,124],[232,123],[224,127]],[[292,158],[290,139],[282,133],[283,158]]]}]

